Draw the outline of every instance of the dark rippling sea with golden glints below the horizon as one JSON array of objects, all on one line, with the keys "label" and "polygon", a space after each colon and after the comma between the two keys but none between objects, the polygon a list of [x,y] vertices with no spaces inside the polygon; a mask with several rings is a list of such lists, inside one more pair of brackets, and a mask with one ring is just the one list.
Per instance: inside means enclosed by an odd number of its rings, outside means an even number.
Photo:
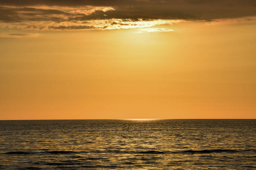
[{"label": "dark rippling sea with golden glints below the horizon", "polygon": [[256,120],[0,121],[0,169],[256,169]]}]

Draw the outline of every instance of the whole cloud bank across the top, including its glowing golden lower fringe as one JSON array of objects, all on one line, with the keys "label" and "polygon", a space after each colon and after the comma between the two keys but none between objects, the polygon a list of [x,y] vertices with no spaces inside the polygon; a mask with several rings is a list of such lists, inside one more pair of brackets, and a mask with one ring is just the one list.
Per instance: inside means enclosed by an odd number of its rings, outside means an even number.
[{"label": "whole cloud bank across the top, including its glowing golden lower fringe", "polygon": [[126,29],[254,16],[255,0],[0,1],[0,27],[7,29]]}]

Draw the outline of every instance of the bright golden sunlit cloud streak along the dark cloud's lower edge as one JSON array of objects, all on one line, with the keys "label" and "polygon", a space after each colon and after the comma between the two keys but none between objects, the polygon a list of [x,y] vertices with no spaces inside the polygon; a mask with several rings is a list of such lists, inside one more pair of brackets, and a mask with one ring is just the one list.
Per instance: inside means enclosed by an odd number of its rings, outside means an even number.
[{"label": "bright golden sunlit cloud streak along the dark cloud's lower edge", "polygon": [[48,22],[30,21],[26,23],[2,23],[1,26],[6,29],[28,29],[28,30],[77,30],[77,29],[132,29],[132,28],[147,28],[156,25],[173,24],[184,22],[183,20],[133,20],[133,19],[97,19],[88,21],[76,22]]}]

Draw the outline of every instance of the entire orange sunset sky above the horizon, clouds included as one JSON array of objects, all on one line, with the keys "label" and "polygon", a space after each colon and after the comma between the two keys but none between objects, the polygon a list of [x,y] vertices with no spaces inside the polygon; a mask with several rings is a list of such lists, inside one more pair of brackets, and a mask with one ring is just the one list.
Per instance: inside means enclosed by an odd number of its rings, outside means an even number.
[{"label": "entire orange sunset sky above the horizon, clouds included", "polygon": [[1,0],[0,120],[256,118],[254,0]]}]

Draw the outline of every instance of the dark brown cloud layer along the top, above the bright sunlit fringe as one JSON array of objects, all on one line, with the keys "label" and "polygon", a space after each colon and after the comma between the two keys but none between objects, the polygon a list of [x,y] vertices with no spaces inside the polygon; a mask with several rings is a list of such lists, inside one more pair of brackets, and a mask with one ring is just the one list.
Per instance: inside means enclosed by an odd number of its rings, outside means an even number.
[{"label": "dark brown cloud layer along the top, above the bright sunlit fringe", "polygon": [[[88,6],[94,9],[86,11]],[[107,10],[97,7],[111,7]],[[91,8],[93,8],[91,7]],[[72,12],[80,10],[80,12]],[[256,16],[255,0],[1,0],[0,22],[53,22],[90,20],[213,20]],[[62,24],[64,25],[64,24]],[[114,23],[112,24],[114,25]],[[53,27],[60,27],[53,25]],[[81,25],[85,27],[85,25]],[[91,25],[89,25],[91,26]],[[42,28],[42,25],[27,25]],[[48,26],[47,26],[48,27]],[[103,27],[103,26],[102,26]],[[46,27],[43,27],[46,28]],[[61,29],[61,28],[59,28]],[[75,28],[76,29],[76,28]],[[84,28],[88,29],[88,28]]]}]

